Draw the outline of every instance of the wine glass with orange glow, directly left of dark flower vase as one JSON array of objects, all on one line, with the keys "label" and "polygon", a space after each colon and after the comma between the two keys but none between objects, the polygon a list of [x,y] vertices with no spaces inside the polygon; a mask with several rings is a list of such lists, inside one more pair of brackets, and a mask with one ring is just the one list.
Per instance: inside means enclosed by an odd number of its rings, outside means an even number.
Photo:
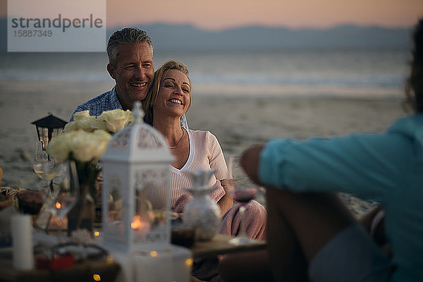
[{"label": "wine glass with orange glow, directly left of dark flower vase", "polygon": [[73,208],[78,201],[80,187],[75,161],[66,161],[61,166],[60,180],[52,181],[53,190],[51,197],[46,201],[51,214],[59,219],[59,243],[62,240],[63,217]]}]

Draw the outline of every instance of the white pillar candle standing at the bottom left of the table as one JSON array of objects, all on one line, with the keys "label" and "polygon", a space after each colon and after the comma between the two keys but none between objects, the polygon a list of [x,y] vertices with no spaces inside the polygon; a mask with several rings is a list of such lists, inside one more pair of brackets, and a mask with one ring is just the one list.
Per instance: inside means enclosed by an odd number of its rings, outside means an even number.
[{"label": "white pillar candle standing at the bottom left of the table", "polygon": [[32,217],[16,214],[11,219],[13,266],[18,270],[34,268],[34,251],[32,250]]}]

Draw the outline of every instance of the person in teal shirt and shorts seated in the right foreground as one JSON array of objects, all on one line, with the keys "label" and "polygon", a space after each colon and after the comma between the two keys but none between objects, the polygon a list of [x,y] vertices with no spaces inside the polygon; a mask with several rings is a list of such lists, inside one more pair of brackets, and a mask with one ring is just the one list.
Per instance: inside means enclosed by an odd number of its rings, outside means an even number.
[{"label": "person in teal shirt and shorts seated in the right foreground", "polygon": [[[423,281],[423,18],[415,27],[406,104],[385,133],[270,140],[245,150],[266,186],[269,262],[276,281]],[[382,252],[335,192],[379,202]]]}]

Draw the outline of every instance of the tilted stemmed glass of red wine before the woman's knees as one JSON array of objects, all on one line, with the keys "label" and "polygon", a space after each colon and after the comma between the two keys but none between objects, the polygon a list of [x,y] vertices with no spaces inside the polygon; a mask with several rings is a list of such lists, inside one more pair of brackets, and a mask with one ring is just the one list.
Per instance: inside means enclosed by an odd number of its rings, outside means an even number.
[{"label": "tilted stemmed glass of red wine before the woman's knees", "polygon": [[245,233],[245,205],[257,196],[259,188],[255,183],[252,183],[240,166],[239,157],[233,155],[229,157],[226,183],[229,194],[240,204],[239,213],[241,217],[238,235],[229,240],[229,243],[233,245],[252,243],[254,240],[248,238]]}]

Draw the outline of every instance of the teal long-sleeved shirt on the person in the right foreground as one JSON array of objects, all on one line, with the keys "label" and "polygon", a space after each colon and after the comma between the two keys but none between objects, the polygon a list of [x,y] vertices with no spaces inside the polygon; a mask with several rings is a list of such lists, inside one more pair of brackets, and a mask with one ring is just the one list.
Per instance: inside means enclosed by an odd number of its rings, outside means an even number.
[{"label": "teal long-sleeved shirt on the person in the right foreground", "polygon": [[397,269],[392,281],[423,281],[423,114],[386,133],[270,140],[259,180],[297,192],[348,192],[384,206]]}]

